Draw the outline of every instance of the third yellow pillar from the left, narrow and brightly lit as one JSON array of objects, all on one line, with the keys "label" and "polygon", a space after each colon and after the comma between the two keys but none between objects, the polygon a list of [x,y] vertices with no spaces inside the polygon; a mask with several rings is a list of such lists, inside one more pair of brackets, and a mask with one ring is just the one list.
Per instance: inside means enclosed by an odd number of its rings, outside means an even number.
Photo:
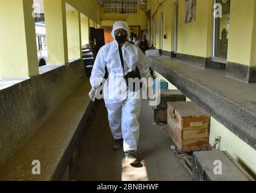
[{"label": "third yellow pillar from the left, narrow and brightly lit", "polygon": [[68,59],[81,58],[80,13],[67,11]]}]

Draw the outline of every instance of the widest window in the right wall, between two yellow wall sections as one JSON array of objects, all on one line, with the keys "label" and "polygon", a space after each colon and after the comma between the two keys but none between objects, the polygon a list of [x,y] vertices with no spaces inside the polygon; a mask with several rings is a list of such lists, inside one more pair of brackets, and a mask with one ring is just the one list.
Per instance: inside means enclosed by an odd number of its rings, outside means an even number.
[{"label": "widest window in the right wall, between two yellow wall sections", "polygon": [[212,60],[226,63],[228,55],[229,13],[230,0],[215,0],[215,4],[222,5],[222,17],[214,17]]}]

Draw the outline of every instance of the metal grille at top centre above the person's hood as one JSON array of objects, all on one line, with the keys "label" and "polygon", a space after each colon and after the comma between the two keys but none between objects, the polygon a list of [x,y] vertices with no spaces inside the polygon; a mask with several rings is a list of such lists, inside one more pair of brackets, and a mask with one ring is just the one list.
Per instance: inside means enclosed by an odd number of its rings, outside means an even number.
[{"label": "metal grille at top centre above the person's hood", "polygon": [[137,0],[103,0],[104,13],[137,14]]}]

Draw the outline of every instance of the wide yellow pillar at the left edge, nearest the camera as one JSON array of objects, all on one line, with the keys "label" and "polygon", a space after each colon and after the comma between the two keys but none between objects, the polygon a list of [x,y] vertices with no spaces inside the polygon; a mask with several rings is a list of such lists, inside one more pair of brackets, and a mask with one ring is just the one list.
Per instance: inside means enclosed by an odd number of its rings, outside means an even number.
[{"label": "wide yellow pillar at the left edge, nearest the camera", "polygon": [[33,0],[1,0],[0,77],[38,74]]}]

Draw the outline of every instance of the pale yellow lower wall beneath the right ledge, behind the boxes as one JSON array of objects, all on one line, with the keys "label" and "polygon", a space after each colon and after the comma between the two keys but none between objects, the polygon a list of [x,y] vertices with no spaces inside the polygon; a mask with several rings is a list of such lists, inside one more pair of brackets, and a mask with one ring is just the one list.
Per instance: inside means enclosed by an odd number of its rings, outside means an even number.
[{"label": "pale yellow lower wall beneath the right ledge, behind the boxes", "polygon": [[[169,89],[177,89],[168,80],[162,77],[159,73],[154,71],[154,77],[161,78],[168,82]],[[186,101],[191,101],[186,98]],[[256,151],[234,133],[228,130],[224,125],[220,124],[216,119],[211,117],[211,130],[209,143],[214,144],[216,136],[221,136],[221,142],[217,145],[218,150],[228,151],[235,160],[237,160],[243,168],[246,169],[256,179]]]}]

